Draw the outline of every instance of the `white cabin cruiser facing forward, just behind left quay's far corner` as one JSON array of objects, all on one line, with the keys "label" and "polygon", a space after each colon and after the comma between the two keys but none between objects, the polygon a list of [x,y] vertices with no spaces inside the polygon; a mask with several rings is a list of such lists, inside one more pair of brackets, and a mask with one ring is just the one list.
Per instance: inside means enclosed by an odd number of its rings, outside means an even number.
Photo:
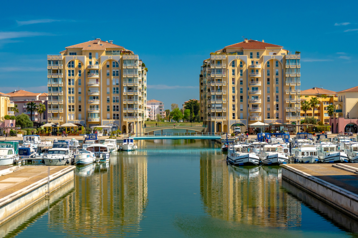
[{"label": "white cabin cruiser facing forward, just behind left quay's far corner", "polygon": [[73,151],[69,148],[69,140],[64,140],[54,142],[43,160],[46,165],[66,165],[72,163],[73,158]]}]

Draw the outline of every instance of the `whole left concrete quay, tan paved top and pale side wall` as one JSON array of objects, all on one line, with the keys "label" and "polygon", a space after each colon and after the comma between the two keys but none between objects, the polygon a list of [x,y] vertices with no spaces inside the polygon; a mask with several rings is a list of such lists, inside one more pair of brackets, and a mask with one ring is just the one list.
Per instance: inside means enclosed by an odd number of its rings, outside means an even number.
[{"label": "whole left concrete quay, tan paved top and pale side wall", "polygon": [[76,166],[0,166],[0,225],[74,178]]}]

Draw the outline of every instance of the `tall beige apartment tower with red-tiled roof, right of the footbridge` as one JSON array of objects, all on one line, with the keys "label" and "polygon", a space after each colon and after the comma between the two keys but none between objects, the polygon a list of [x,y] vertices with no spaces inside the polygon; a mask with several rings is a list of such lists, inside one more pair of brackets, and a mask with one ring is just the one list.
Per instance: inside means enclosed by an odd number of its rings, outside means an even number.
[{"label": "tall beige apartment tower with red-tiled roof, right of the footbridge", "polygon": [[258,121],[299,125],[300,58],[263,40],[212,52],[200,71],[200,117],[207,131],[231,133],[234,125],[245,130]]}]

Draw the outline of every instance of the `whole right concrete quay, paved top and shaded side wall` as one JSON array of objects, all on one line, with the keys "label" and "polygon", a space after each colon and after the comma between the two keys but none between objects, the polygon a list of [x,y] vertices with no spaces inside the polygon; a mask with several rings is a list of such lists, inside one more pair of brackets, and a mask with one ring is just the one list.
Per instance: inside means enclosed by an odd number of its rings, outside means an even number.
[{"label": "whole right concrete quay, paved top and shaded side wall", "polygon": [[281,164],[282,179],[358,220],[358,164]]}]

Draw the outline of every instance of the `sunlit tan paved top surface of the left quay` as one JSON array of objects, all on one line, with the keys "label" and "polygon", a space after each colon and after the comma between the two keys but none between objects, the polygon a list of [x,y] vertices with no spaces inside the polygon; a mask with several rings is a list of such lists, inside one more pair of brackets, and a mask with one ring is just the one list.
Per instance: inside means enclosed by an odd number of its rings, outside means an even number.
[{"label": "sunlit tan paved top surface of the left quay", "polygon": [[[0,166],[0,170],[9,167]],[[51,175],[61,171],[66,166],[22,166],[20,170],[0,176],[0,199],[46,178],[48,168],[50,168]]]}]

